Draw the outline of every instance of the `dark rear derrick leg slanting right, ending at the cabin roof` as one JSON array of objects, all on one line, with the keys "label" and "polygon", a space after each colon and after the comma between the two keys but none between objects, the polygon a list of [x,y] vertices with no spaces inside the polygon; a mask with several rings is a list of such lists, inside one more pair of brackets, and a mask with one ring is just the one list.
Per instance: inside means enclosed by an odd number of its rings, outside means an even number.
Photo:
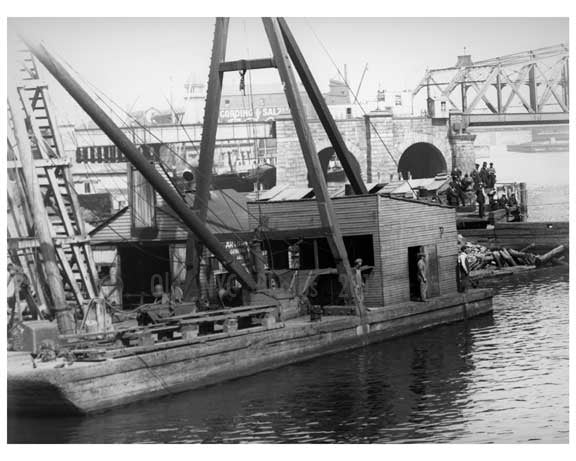
[{"label": "dark rear derrick leg slanting right, ending at the cabin roof", "polygon": [[320,88],[316,84],[316,80],[310,71],[310,68],[306,64],[306,60],[286,23],[284,18],[278,19],[278,24],[280,26],[280,30],[282,32],[282,36],[284,41],[286,42],[286,49],[288,50],[288,54],[294,63],[294,67],[300,76],[300,80],[306,89],[306,93],[308,93],[308,97],[314,106],[314,110],[318,114],[318,118],[328,135],[328,139],[330,139],[330,143],[336,152],[336,156],[350,181],[350,185],[352,186],[352,190],[357,195],[367,194],[368,190],[366,189],[366,185],[362,180],[362,176],[360,171],[356,170],[353,164],[349,161],[349,156],[353,155],[348,148],[346,147],[346,143],[340,134],[340,130],[334,121],[334,117],[330,113],[328,109],[328,105],[324,100],[324,96],[320,92]]}]

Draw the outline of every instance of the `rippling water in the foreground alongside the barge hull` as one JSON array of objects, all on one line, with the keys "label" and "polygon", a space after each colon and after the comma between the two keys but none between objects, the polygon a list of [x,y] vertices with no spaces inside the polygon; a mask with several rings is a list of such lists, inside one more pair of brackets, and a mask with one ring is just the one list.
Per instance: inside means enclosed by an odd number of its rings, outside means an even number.
[{"label": "rippling water in the foreground alongside the barge hull", "polygon": [[11,419],[10,442],[568,442],[568,272],[492,282],[493,315],[132,405]]}]

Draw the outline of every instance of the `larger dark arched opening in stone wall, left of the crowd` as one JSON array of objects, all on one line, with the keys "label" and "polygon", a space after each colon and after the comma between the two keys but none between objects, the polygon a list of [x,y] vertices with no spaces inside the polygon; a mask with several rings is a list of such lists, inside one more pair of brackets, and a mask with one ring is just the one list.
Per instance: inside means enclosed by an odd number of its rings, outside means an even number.
[{"label": "larger dark arched opening in stone wall, left of the crowd", "polygon": [[432,178],[438,173],[447,171],[446,160],[434,145],[417,142],[406,149],[400,157],[398,171],[404,179],[408,179],[409,172],[413,179]]}]

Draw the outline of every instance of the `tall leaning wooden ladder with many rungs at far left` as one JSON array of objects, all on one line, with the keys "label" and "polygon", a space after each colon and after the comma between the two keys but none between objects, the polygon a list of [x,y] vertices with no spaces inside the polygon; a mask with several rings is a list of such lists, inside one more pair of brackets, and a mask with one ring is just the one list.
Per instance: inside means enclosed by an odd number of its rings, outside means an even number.
[{"label": "tall leaning wooden ladder with many rungs at far left", "polygon": [[[21,107],[13,109],[19,113],[9,113],[9,125],[11,117],[20,116],[27,121],[36,172],[52,229],[67,300],[76,302],[84,310],[88,302],[98,296],[98,274],[74,190],[70,160],[63,155],[62,140],[51,111],[52,104],[46,82],[40,78],[32,54],[28,50],[20,53],[22,66],[18,95]],[[10,133],[10,127],[8,132]],[[14,157],[8,162],[9,169],[20,167],[15,146],[12,143]],[[12,247],[17,251],[19,247],[31,245],[34,245],[33,240],[26,243],[16,242]]]}]

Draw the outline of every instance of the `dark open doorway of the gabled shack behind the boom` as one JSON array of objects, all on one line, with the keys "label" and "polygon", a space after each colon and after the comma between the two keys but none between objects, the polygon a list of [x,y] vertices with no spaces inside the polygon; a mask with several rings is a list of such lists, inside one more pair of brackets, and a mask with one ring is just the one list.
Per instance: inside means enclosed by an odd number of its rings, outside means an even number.
[{"label": "dark open doorway of the gabled shack behind the boom", "polygon": [[170,292],[170,246],[130,245],[118,249],[122,277],[122,305],[132,309],[154,301],[154,285]]}]

